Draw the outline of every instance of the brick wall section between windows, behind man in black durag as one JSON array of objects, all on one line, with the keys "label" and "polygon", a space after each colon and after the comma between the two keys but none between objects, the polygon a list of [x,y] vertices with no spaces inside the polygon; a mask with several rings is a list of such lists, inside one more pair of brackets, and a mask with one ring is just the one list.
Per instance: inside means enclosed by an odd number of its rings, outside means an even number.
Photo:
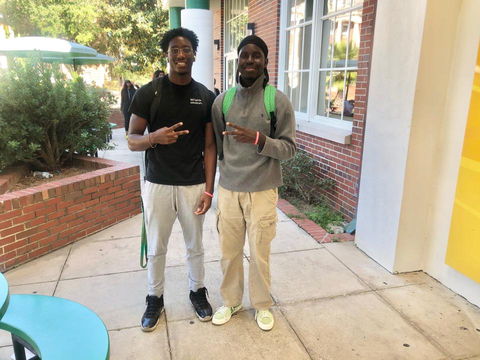
[{"label": "brick wall section between windows, behind man in black durag", "polygon": [[280,33],[280,0],[249,0],[248,22],[255,23],[255,35],[268,46],[269,83],[277,85],[278,46]]}]

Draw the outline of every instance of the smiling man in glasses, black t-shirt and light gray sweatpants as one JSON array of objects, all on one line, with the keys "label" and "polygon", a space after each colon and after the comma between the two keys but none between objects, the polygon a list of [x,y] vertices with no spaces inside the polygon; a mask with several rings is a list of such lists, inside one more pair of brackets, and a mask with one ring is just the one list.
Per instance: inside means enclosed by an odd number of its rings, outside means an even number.
[{"label": "smiling man in glasses, black t-shirt and light gray sweatpants", "polygon": [[[212,309],[203,286],[202,226],[210,208],[216,169],[216,145],[211,125],[213,92],[191,78],[198,38],[185,28],[165,33],[161,47],[170,72],[160,81],[160,102],[150,118],[152,82],[132,100],[128,147],[146,152],[148,167],[142,191],[147,233],[148,295],[141,329],[155,329],[163,311],[163,284],[168,237],[178,216],[186,244],[190,303],[200,321]],[[149,133],[143,135],[149,124]]]}]

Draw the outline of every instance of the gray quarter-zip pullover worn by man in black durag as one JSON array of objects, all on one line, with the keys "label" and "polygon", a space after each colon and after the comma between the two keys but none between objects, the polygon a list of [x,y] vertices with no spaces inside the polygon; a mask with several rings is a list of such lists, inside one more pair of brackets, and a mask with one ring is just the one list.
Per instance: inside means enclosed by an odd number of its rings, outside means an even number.
[{"label": "gray quarter-zip pullover worn by man in black durag", "polygon": [[[254,192],[281,186],[280,160],[288,160],[296,152],[293,108],[288,97],[279,90],[275,93],[276,130],[274,138],[268,137],[270,120],[263,103],[263,78],[263,75],[260,76],[250,87],[238,83],[238,90],[225,116],[225,122],[265,134],[265,145],[261,149],[259,145],[237,142],[231,135],[225,135],[222,140],[225,92],[213,102],[212,125],[218,152],[223,147],[218,184],[230,191]],[[234,130],[226,127],[226,131]]]}]

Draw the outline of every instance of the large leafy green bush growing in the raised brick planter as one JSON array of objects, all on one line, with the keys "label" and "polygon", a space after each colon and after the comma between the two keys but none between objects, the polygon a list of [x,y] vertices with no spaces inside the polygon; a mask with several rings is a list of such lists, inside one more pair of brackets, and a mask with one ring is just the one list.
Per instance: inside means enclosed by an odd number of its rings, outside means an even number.
[{"label": "large leafy green bush growing in the raised brick planter", "polygon": [[111,148],[105,89],[79,76],[67,80],[58,65],[39,58],[9,59],[0,73],[0,169],[28,162],[33,169],[55,171],[74,152]]}]

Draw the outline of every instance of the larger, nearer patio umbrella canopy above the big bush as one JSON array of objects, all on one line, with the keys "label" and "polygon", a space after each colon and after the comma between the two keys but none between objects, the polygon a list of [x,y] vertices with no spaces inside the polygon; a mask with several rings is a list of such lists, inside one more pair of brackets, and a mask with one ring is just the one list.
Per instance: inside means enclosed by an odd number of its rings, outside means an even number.
[{"label": "larger, nearer patio umbrella canopy above the big bush", "polygon": [[24,36],[0,41],[0,55],[28,57],[38,52],[41,57],[56,58],[94,57],[97,54],[91,47],[51,37]]}]

